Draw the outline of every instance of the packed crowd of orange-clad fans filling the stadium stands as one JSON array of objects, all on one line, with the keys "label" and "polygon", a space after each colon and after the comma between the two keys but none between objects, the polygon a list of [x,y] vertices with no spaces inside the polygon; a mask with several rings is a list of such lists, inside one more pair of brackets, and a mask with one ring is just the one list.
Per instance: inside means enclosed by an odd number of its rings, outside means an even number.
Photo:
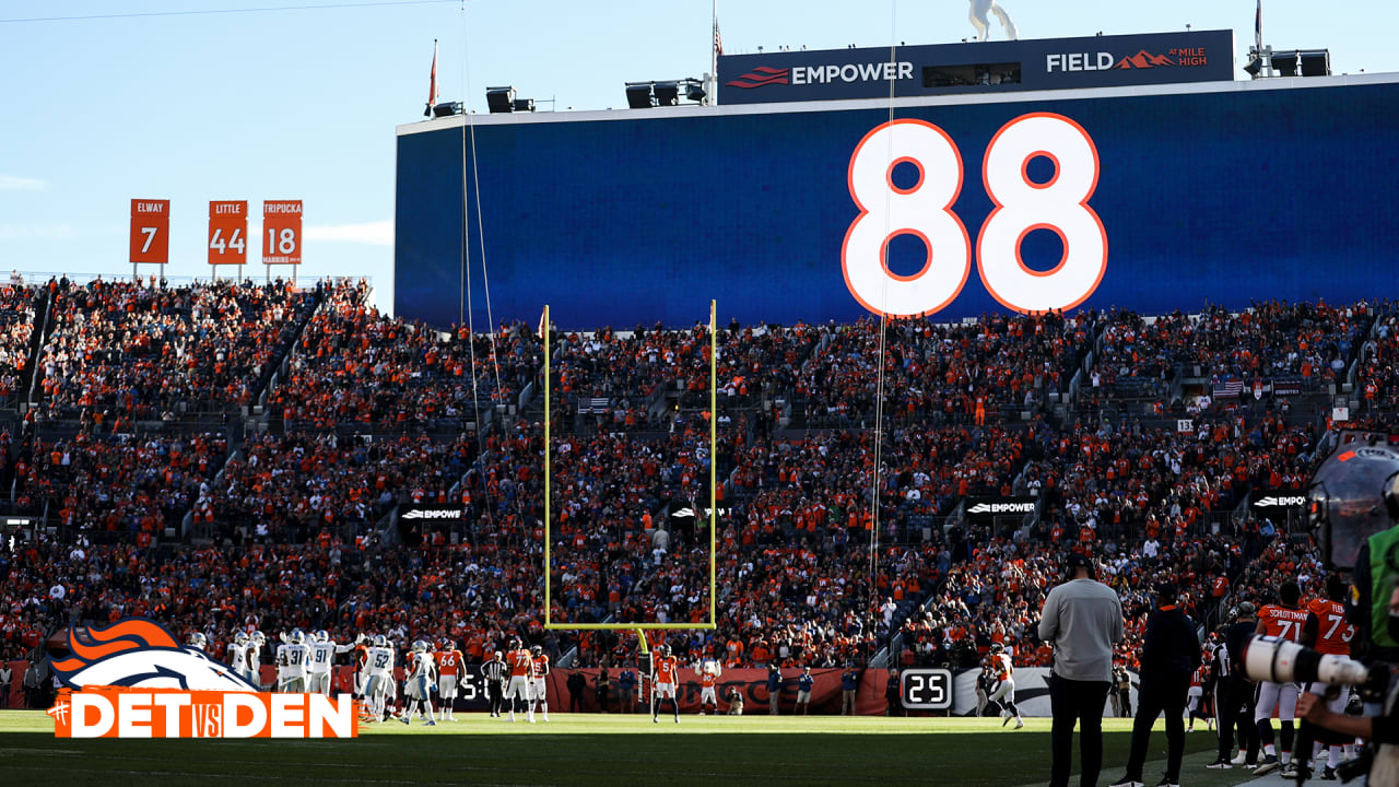
[{"label": "packed crowd of orange-clad fans filling the stadium stands", "polygon": [[[18,312],[27,293],[42,297],[11,287],[0,311]],[[519,633],[555,655],[576,648],[574,664],[634,658],[630,634],[541,625],[544,437],[537,389],[525,394],[543,343],[530,326],[439,333],[378,314],[362,281],[48,293],[57,319],[39,349],[42,408],[46,424],[71,429],[0,436],[11,507],[55,525],[0,550],[0,655],[70,619],[150,615],[215,643],[325,627],[340,640],[450,639],[480,660]],[[993,643],[1041,664],[1032,616],[1079,550],[1132,613],[1130,662],[1163,578],[1181,585],[1188,612],[1210,616],[1280,576],[1319,576],[1307,539],[1248,503],[1301,487],[1322,419],[1279,395],[1247,408],[1242,391],[1217,396],[1185,378],[1340,379],[1358,360],[1384,385],[1381,408],[1393,398],[1393,326],[1386,307],[1364,304],[907,321],[883,342],[873,321],[730,325],[718,416],[706,410],[705,326],[557,333],[560,415],[607,403],[596,422],[555,419],[574,429],[557,430],[551,451],[551,618],[701,622],[713,602],[715,632],[665,639],[730,667],[867,664],[886,647],[895,665],[971,665]],[[18,347],[20,332],[11,339]],[[281,429],[141,431],[180,405],[253,402],[284,353],[290,374],[267,395]],[[860,424],[874,417],[880,353],[888,429],[876,436]],[[1114,420],[1055,406],[1076,385],[1111,403],[1126,378],[1153,381],[1154,410]],[[502,415],[487,427],[477,408]],[[711,464],[723,513],[716,599],[702,515]],[[1010,496],[1034,513],[985,521],[965,510]],[[400,504],[462,515],[381,529]],[[186,514],[204,546],[162,543]]]}]

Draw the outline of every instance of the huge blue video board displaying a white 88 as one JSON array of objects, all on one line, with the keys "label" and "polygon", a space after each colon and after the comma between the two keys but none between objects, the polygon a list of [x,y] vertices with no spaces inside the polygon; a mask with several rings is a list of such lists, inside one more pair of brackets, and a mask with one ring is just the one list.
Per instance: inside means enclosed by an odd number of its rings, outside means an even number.
[{"label": "huge blue video board displaying a white 88", "polygon": [[[1206,301],[1244,308],[1263,298],[1381,297],[1399,286],[1399,227],[1385,218],[1399,200],[1385,123],[1396,109],[1399,76],[1371,74],[492,115],[473,118],[470,130],[462,118],[416,123],[397,139],[395,308],[439,328],[469,309],[480,329],[488,318],[533,325],[547,302],[562,328],[588,329],[693,325],[709,298],[723,322],[793,323],[870,311],[954,321],[1027,304],[1165,314]],[[983,232],[996,207],[989,192],[997,190],[983,176],[1002,192],[1018,188],[1017,160],[1034,139],[1011,144],[1006,129],[1037,113],[1067,120],[1053,120],[1067,136],[1045,143],[1062,148],[1055,155],[1063,164],[1030,157],[1021,171],[1035,183],[1055,178],[1058,188],[1046,189],[1048,202],[1013,206]],[[916,120],[905,130],[919,134],[867,146],[874,175],[859,188],[870,210],[866,234],[876,239],[860,238],[851,251],[848,231],[860,216],[852,154],[891,118]],[[1072,126],[1091,141],[1091,155],[1069,139]],[[983,171],[993,139],[1006,148]],[[915,189],[925,199],[886,218],[884,206],[902,197],[877,181],[898,157],[942,158],[890,168],[898,189],[915,188],[919,167],[930,175]],[[1091,188],[1087,209],[1070,188],[1079,181]],[[935,197],[953,192],[943,211],[946,200]],[[1027,230],[1023,242],[978,248],[983,234],[1014,241],[1017,227]],[[898,279],[879,272],[879,238],[888,232],[897,237],[887,269]],[[919,234],[936,246],[922,274],[929,255]],[[1060,262],[1059,273],[1076,273],[1046,274]],[[852,270],[866,281],[863,300],[879,302],[862,305]],[[997,276],[1028,281],[1027,294],[993,291],[986,280]]]}]

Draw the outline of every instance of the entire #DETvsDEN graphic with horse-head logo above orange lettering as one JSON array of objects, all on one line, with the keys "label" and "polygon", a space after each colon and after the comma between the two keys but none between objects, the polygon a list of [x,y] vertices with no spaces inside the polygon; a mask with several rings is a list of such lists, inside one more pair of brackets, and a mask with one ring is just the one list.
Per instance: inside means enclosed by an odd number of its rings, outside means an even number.
[{"label": "entire #DETvsDEN graphic with horse-head logo above orange lettering", "polygon": [[49,667],[64,686],[48,714],[57,738],[355,738],[348,695],[269,693],[165,626],[127,618],[69,629]]}]

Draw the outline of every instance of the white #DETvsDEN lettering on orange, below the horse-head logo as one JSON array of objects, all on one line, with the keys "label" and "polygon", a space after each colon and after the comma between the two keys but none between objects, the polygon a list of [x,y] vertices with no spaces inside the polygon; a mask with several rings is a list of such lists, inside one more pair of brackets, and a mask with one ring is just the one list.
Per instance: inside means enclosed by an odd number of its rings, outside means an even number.
[{"label": "white #DETvsDEN lettering on orange, below the horse-head logo", "polygon": [[56,738],[357,738],[350,695],[60,689],[49,709]]}]

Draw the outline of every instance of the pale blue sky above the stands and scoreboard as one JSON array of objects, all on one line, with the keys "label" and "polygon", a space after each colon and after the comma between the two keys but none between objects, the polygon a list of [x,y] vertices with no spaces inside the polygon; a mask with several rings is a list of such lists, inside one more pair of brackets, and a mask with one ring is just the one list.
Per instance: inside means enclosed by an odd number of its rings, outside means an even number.
[{"label": "pale blue sky above the stands and scoreboard", "polygon": [[[388,308],[395,126],[421,119],[434,38],[441,98],[464,97],[483,112],[485,85],[554,98],[560,111],[606,109],[625,106],[625,81],[698,77],[709,67],[709,0],[473,0],[13,21],[322,3],[0,1],[0,269],[129,274],[129,200],[162,197],[173,203],[166,273],[207,277],[208,200],[248,199],[256,232],[263,199],[302,199],[301,276],[371,276]],[[965,0],[720,0],[719,27],[730,55],[891,39],[946,43],[972,34],[967,7]],[[1254,0],[1004,0],[1003,7],[1021,38],[1230,28],[1240,64],[1254,41]],[[1399,70],[1393,4],[1365,0],[1336,14],[1322,7],[1265,0],[1266,42],[1329,48],[1336,73]],[[992,28],[993,38],[999,32]]]}]

